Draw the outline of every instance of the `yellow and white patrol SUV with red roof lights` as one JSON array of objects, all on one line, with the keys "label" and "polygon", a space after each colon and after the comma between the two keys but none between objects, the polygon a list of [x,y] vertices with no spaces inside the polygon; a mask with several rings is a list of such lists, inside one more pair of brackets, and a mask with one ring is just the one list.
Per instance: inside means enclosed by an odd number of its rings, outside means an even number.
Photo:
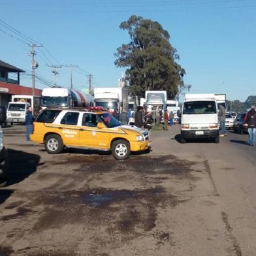
[{"label": "yellow and white patrol SUV with red roof lights", "polygon": [[34,122],[30,138],[44,144],[48,153],[60,153],[64,147],[82,147],[111,150],[118,160],[150,147],[148,131],[121,125],[108,112],[75,108],[42,110]]}]

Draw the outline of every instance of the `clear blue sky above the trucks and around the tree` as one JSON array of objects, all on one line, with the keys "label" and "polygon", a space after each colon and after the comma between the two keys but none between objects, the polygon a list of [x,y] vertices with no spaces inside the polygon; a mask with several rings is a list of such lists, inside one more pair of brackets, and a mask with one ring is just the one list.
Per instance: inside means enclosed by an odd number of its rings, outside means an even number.
[{"label": "clear blue sky above the trucks and around the tree", "polygon": [[[41,42],[59,63],[93,74],[94,87],[114,87],[122,69],[114,66],[113,54],[129,42],[119,25],[133,14],[159,22],[170,33],[190,93],[226,93],[241,101],[256,95],[255,0],[16,0],[1,3],[0,19]],[[3,31],[0,59],[30,71],[29,47]],[[46,63],[56,60],[42,52],[36,56],[37,72],[52,81]],[[58,71],[58,84],[68,86],[69,69]],[[88,87],[87,79],[86,73],[73,72],[77,89]],[[31,86],[31,80],[22,84]]]}]

